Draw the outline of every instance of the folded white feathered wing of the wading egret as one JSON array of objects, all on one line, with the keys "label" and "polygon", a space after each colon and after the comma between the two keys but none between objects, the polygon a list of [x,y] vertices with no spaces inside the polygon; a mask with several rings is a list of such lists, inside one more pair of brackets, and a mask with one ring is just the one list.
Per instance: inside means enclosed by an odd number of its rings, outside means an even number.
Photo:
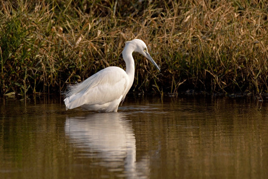
[{"label": "folded white feathered wing of the wading egret", "polygon": [[107,67],[84,82],[71,86],[64,99],[66,108],[84,104],[104,104],[126,95],[129,79],[119,67]]}]

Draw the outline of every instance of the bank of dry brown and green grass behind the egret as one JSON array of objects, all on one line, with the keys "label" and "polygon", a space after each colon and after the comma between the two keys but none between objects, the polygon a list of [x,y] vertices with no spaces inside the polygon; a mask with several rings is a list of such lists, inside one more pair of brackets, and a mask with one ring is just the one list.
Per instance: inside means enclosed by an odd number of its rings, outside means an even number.
[{"label": "bank of dry brown and green grass behind the egret", "polygon": [[134,54],[131,91],[268,92],[266,0],[2,1],[0,95],[60,93],[108,66],[124,42],[145,41],[157,72]]}]

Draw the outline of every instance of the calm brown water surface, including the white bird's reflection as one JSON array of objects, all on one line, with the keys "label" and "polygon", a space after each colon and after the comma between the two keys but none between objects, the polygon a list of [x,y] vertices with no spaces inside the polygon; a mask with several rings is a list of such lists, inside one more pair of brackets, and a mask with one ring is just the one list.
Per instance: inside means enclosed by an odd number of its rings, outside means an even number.
[{"label": "calm brown water surface, including the white bird's reflection", "polygon": [[267,179],[268,101],[128,95],[117,113],[0,100],[0,179]]}]

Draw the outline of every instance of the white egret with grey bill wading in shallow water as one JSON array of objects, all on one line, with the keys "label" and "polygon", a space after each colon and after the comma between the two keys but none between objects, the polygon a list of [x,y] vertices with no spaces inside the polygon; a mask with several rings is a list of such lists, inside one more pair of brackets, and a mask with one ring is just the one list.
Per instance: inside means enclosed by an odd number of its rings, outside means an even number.
[{"label": "white egret with grey bill wading in shallow water", "polygon": [[122,52],[126,71],[119,67],[107,67],[87,80],[69,86],[64,99],[66,110],[82,106],[93,111],[117,112],[119,103],[124,100],[134,81],[135,65],[132,52],[145,56],[160,71],[142,40],[127,41]]}]

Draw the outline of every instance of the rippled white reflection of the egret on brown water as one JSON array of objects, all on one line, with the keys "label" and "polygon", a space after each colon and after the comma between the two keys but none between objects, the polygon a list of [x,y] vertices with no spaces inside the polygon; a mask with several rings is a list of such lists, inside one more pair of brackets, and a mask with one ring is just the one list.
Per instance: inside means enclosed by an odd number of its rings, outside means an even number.
[{"label": "rippled white reflection of the egret on brown water", "polygon": [[[128,177],[147,173],[147,161],[142,160],[136,169],[136,140],[126,115],[122,113],[91,113],[85,117],[67,117],[65,133],[83,157],[98,158],[99,165],[120,169]],[[85,156],[85,152],[88,156]]]}]

